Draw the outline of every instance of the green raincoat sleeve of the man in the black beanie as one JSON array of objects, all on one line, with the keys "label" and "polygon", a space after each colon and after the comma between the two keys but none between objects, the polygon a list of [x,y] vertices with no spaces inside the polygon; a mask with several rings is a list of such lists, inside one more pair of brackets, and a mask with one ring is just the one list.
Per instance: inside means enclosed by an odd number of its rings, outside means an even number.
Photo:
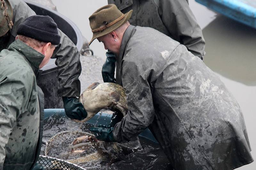
[{"label": "green raincoat sleeve of the man in the black beanie", "polygon": [[22,74],[16,70],[13,74],[0,77],[0,170],[3,169],[6,148],[16,118],[28,103],[29,91],[32,91],[33,75]]}]

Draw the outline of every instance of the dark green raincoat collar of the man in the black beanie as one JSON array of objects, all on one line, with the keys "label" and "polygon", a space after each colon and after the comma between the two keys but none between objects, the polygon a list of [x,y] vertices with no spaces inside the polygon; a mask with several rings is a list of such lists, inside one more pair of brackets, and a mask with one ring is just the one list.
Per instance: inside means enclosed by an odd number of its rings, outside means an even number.
[{"label": "dark green raincoat collar of the man in the black beanie", "polygon": [[39,65],[45,57],[42,53],[39,53],[32,47],[28,46],[26,43],[20,41],[19,39],[10,44],[8,50],[15,51],[24,56],[24,58],[26,58],[30,63],[35,74],[37,74],[39,70]]}]

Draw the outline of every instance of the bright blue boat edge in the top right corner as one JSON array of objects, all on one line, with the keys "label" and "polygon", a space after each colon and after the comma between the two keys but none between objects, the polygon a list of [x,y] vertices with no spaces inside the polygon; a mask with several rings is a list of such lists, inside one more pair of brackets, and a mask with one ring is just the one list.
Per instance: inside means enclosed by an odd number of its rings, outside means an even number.
[{"label": "bright blue boat edge in the top right corner", "polygon": [[229,18],[256,28],[255,0],[196,0]]}]

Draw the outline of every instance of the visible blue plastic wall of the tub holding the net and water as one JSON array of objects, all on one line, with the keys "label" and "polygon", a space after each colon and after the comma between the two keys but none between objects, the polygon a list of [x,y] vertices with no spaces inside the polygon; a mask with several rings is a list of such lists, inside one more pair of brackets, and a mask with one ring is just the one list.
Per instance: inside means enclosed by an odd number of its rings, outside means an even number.
[{"label": "visible blue plastic wall of the tub holding the net and water", "polygon": [[[66,117],[66,113],[64,109],[44,109],[44,119],[47,117]],[[108,125],[110,122],[112,115],[106,114],[106,113],[97,113],[94,117],[92,117],[87,123],[89,124],[102,124],[102,125]],[[143,136],[153,142],[157,142],[156,138],[153,136],[153,134],[149,131],[149,129],[145,129],[143,132],[140,133],[140,136]]]}]

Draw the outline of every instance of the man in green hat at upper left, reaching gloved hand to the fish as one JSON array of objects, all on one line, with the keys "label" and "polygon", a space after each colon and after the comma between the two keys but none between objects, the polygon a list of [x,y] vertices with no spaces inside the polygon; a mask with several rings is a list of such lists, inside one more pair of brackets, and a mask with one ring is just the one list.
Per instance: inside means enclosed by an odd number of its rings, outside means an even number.
[{"label": "man in green hat at upper left, reaching gloved hand to the fish", "polygon": [[[17,36],[17,28],[28,17],[36,15],[22,0],[0,0],[0,50],[8,48]],[[58,68],[58,96],[62,96],[68,117],[82,120],[87,116],[79,102],[81,74],[80,54],[76,45],[59,29],[60,44],[56,46],[52,58],[56,58]]]}]

